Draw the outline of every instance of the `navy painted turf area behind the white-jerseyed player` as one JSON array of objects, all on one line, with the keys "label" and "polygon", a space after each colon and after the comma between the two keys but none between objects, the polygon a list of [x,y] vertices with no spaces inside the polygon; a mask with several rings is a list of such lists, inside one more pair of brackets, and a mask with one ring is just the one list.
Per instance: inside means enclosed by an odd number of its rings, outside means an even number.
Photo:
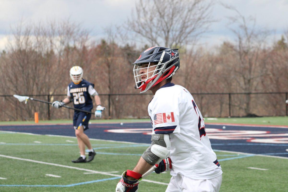
[{"label": "navy painted turf area behind the white-jerseyed player", "polygon": [[[221,129],[223,126],[219,125],[206,125],[206,128]],[[105,139],[105,140],[116,140],[116,141],[129,141],[137,143],[151,143],[151,135],[142,133],[112,133],[105,132],[105,130],[119,130],[129,128],[151,128],[151,123],[120,123],[113,124],[90,124],[89,129],[85,131],[89,138]],[[74,129],[71,125],[17,125],[17,126],[0,126],[2,131],[15,131],[15,132],[26,132],[34,134],[52,134],[52,135],[65,135],[75,136]],[[287,128],[267,128],[267,127],[241,127],[241,126],[226,126],[225,130],[255,130],[255,131],[269,131],[269,134],[281,134],[288,133]],[[207,134],[209,136],[209,133]],[[273,136],[275,138],[275,136]],[[279,136],[283,138],[285,136]],[[253,138],[272,138],[272,137],[253,137]],[[287,136],[286,136],[287,138]],[[275,143],[256,143],[248,142],[245,139],[237,140],[219,140],[210,139],[213,149],[226,150],[226,151],[237,151],[244,153],[255,153],[255,154],[274,154],[276,156],[288,157],[288,144],[275,144]]]}]

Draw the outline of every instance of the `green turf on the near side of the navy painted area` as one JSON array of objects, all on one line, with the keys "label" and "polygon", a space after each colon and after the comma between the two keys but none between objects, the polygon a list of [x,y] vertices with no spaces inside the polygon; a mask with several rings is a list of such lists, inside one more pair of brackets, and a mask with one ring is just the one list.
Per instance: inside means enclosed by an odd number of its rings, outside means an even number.
[{"label": "green turf on the near side of the navy painted area", "polygon": [[[0,132],[0,142],[0,177],[2,178],[0,185],[30,185],[29,187],[0,186],[0,191],[111,192],[115,190],[119,181],[118,176],[127,169],[133,169],[148,146],[91,140],[93,148],[98,152],[95,159],[86,164],[73,164],[71,159],[79,156],[77,140],[73,137]],[[220,191],[287,191],[288,159],[221,151],[216,151],[216,154],[223,169]],[[21,159],[13,159],[14,157]],[[233,157],[237,159],[230,159]],[[100,173],[95,173],[96,171]],[[61,177],[56,178],[46,174]],[[105,180],[109,178],[111,180]],[[150,182],[169,183],[170,174],[152,173],[146,179]],[[139,192],[160,192],[165,191],[167,187],[150,182],[141,181]],[[46,185],[46,187],[35,187],[35,185]]]}]

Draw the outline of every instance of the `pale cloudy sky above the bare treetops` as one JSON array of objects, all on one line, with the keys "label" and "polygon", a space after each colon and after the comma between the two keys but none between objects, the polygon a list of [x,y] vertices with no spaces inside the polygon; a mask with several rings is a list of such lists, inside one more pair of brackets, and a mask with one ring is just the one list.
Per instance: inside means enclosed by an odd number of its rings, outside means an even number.
[{"label": "pale cloudy sky above the bare treetops", "polygon": [[[215,0],[216,1],[216,0]],[[274,30],[271,38],[278,39],[288,29],[288,0],[218,0],[236,7],[244,16],[257,19],[257,26]],[[131,16],[135,0],[0,0],[0,50],[4,49],[11,26],[22,19],[33,23],[46,20],[67,20],[82,23],[90,35],[103,37],[104,28],[120,25]],[[211,25],[201,43],[217,45],[233,36],[227,28],[227,16],[235,13],[215,5],[213,17],[219,20]]]}]

